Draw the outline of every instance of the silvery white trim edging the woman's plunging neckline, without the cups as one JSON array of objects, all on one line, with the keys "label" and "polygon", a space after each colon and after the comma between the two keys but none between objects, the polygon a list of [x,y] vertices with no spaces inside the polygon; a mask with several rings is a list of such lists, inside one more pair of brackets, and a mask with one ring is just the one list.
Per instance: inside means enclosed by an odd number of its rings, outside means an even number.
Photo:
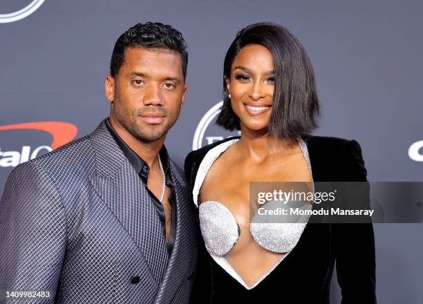
[{"label": "silvery white trim edging the woman's plunging neckline, without the cups", "polygon": [[[303,157],[306,160],[307,167],[308,167],[308,170],[310,172],[310,178],[311,178],[311,183],[312,183],[312,192],[314,193],[314,182],[313,182],[312,169],[311,169],[311,164],[310,164],[310,157],[308,155],[307,145],[304,142],[304,140],[301,138],[301,136],[297,136],[296,139],[297,139],[297,142],[300,146]],[[232,146],[232,144],[234,144],[238,140],[239,140],[239,138],[234,138],[233,140],[228,140],[227,142],[223,142],[223,143],[219,144],[218,146],[215,146],[214,148],[207,151],[205,157],[203,158],[202,162],[200,163],[200,166],[198,167],[198,171],[197,171],[197,175],[196,175],[196,179],[195,179],[194,187],[193,187],[193,191],[192,191],[194,204],[196,205],[196,207],[198,207],[198,196],[199,196],[199,193],[200,193],[201,186],[203,185],[203,182],[204,182],[205,177],[207,175],[207,172],[212,167],[214,161],[220,156],[220,154],[225,152],[229,148],[229,146]],[[209,202],[209,201],[205,201],[205,202]],[[221,202],[219,202],[219,203],[221,205],[223,205]],[[223,206],[226,207],[225,205],[223,205]],[[229,210],[229,212],[231,212],[231,211]],[[232,212],[231,212],[231,214],[234,217]],[[304,227],[304,229],[305,228],[306,227]],[[300,234],[300,236],[297,240],[297,243],[294,245],[294,247],[297,246],[299,239],[301,238],[301,236],[303,234],[303,231],[301,231],[301,234]],[[220,267],[222,267],[225,270],[225,272],[227,272],[227,274],[232,276],[232,278],[234,278],[236,281],[238,281],[238,283],[243,285],[243,287],[245,287],[245,289],[250,290],[250,289],[253,289],[254,287],[256,287],[257,285],[259,285],[259,283],[261,283],[261,281],[263,281],[271,272],[273,272],[273,270],[282,262],[283,259],[285,259],[290,254],[291,251],[288,251],[285,254],[283,254],[283,256],[281,256],[281,258],[276,263],[274,263],[274,265],[272,265],[272,267],[270,267],[270,269],[268,269],[267,272],[265,272],[263,274],[263,276],[261,276],[259,278],[259,280],[256,281],[256,283],[254,283],[250,287],[247,285],[247,283],[245,283],[243,278],[241,278],[241,276],[238,274],[238,272],[236,272],[234,267],[232,267],[232,265],[227,261],[227,259],[224,256],[216,256],[216,255],[210,253],[209,251],[208,252],[209,252],[210,256],[212,256],[214,261]]]}]

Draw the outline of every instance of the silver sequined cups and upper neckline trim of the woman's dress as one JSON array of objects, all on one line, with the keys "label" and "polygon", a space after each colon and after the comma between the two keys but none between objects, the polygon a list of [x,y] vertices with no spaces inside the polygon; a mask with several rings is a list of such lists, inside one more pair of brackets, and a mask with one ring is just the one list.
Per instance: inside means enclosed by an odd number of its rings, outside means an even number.
[{"label": "silver sequined cups and upper neckline trim of the woman's dress", "polygon": [[[205,176],[218,156],[238,139],[229,140],[214,147],[205,155],[200,164],[194,184],[194,202],[198,206],[198,194]],[[311,175],[310,159],[305,142],[297,137],[301,151],[308,164]],[[307,204],[311,209],[311,205]],[[200,229],[205,240],[207,251],[214,257],[223,257],[238,240],[240,229],[232,212],[221,202],[209,200],[199,204]],[[250,223],[250,233],[261,247],[278,253],[290,252],[303,233],[308,221],[308,216],[299,217],[294,223]]]}]

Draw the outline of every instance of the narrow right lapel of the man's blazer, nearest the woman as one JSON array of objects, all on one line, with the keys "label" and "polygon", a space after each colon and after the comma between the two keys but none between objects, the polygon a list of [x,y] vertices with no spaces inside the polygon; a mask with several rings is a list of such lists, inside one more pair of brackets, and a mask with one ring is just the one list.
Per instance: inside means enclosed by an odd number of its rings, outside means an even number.
[{"label": "narrow right lapel of the man's blazer, nearest the woman", "polygon": [[176,191],[176,237],[166,274],[160,285],[156,303],[171,303],[179,285],[187,280],[187,272],[196,247],[194,213],[190,193],[178,169],[171,163],[171,176]]}]

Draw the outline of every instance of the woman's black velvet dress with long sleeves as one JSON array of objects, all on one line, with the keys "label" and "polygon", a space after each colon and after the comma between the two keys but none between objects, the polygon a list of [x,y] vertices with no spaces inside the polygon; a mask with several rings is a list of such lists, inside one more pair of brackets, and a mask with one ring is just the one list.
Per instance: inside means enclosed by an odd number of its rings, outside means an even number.
[{"label": "woman's black velvet dress with long sleeves", "polygon": [[[193,187],[207,151],[224,141],[189,153],[185,173]],[[354,141],[305,135],[312,178],[320,181],[366,181],[361,148]],[[198,209],[196,209],[198,215]],[[372,224],[309,223],[292,249],[256,287],[246,289],[200,248],[191,303],[329,303],[336,261],[342,303],[376,303],[375,239]]]}]

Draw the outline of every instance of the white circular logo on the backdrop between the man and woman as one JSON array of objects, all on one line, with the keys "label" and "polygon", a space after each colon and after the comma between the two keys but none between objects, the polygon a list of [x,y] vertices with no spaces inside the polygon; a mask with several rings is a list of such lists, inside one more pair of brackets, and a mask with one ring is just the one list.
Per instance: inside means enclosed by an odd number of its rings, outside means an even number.
[{"label": "white circular logo on the backdrop between the man and woman", "polygon": [[[216,119],[222,110],[223,101],[218,102],[205,113],[201,118],[192,141],[192,149],[200,149],[203,145],[212,144],[218,140],[223,140],[225,137],[240,135],[241,131],[228,132],[218,128],[218,126],[211,125],[210,123]],[[219,134],[219,135],[216,135]]]}]

